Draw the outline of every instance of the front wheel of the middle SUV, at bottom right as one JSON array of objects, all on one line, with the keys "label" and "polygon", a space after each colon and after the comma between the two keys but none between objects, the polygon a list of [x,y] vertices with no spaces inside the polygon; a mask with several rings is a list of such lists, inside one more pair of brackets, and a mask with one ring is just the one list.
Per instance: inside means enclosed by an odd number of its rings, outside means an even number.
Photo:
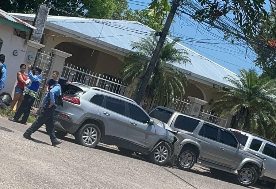
[{"label": "front wheel of the middle SUV, at bottom right", "polygon": [[241,168],[237,177],[239,184],[242,186],[251,186],[255,184],[259,178],[255,167],[252,165],[245,165]]}]

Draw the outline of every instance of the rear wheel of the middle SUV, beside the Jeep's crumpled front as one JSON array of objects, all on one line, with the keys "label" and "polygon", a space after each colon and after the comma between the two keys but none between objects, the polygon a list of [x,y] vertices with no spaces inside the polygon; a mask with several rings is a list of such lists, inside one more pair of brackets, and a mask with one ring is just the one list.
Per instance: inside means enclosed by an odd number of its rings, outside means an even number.
[{"label": "rear wheel of the middle SUV, beside the Jeep's crumpled front", "polygon": [[177,157],[177,167],[182,170],[189,170],[196,162],[196,153],[191,148],[182,149]]}]

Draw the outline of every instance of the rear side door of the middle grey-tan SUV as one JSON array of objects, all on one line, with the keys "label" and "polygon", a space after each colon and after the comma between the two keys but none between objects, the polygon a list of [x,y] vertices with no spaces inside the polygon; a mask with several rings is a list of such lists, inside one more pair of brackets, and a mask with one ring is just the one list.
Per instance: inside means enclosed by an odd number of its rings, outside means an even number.
[{"label": "rear side door of the middle grey-tan SUV", "polygon": [[197,142],[201,146],[200,159],[214,161],[218,148],[218,127],[204,123],[198,133]]}]

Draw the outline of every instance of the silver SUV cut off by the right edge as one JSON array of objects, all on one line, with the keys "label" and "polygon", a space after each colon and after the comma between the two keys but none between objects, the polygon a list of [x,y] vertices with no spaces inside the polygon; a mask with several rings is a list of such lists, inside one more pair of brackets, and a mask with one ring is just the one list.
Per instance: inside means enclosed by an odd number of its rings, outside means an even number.
[{"label": "silver SUV cut off by the right edge", "polygon": [[248,131],[231,129],[243,149],[263,159],[266,172],[262,179],[276,183],[276,144],[269,139]]}]

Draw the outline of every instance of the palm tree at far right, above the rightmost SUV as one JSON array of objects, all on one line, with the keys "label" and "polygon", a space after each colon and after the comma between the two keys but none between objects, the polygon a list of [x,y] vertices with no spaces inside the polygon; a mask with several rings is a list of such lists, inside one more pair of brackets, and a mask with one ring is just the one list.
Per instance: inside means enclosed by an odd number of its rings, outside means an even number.
[{"label": "palm tree at far right, above the rightmost SUV", "polygon": [[[257,74],[255,69],[240,70],[237,78],[225,78],[234,87],[222,87],[215,92],[220,98],[213,104],[213,110],[225,115],[236,114],[232,127],[251,130],[256,120],[264,116],[275,116],[276,80]],[[258,124],[257,124],[258,125]]]}]

